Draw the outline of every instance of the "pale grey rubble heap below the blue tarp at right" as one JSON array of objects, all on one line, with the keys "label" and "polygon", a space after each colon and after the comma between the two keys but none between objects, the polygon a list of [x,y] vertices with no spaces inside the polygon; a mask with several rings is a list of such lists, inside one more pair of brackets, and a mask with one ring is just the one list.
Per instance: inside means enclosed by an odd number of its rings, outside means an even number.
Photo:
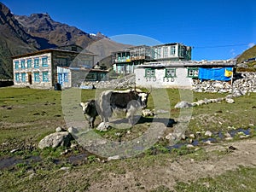
[{"label": "pale grey rubble heap below the blue tarp at right", "polygon": [[193,81],[195,92],[231,93],[245,95],[247,92],[256,92],[256,73],[238,73],[241,78],[235,79],[231,85],[224,81]]}]

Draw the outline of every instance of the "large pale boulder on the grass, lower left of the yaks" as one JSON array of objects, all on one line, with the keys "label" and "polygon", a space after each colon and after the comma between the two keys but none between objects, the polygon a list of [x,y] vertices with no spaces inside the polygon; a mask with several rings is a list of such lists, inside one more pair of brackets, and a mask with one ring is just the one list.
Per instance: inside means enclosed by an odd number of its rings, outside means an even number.
[{"label": "large pale boulder on the grass, lower left of the yaks", "polygon": [[73,137],[67,131],[55,132],[49,134],[49,136],[44,137],[39,143],[38,148],[57,148],[59,146],[70,146],[70,142],[73,140]]}]

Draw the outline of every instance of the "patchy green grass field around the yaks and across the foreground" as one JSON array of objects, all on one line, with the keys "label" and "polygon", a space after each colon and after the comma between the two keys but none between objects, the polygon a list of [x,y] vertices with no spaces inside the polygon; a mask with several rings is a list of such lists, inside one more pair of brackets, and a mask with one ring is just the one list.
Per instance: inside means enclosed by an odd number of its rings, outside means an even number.
[{"label": "patchy green grass field around the yaks and across the foreground", "polygon": [[[160,90],[158,90],[160,92]],[[157,98],[149,96],[148,108],[161,108],[161,101],[169,100],[171,103],[170,113],[172,119],[177,120],[181,111],[174,108],[177,102],[180,102],[179,90],[165,90],[169,98],[161,98],[161,94]],[[212,93],[191,93],[184,90],[183,94],[192,94],[193,101],[199,101],[205,98],[218,98],[224,97],[222,94]],[[82,101],[94,98],[96,90],[82,90]],[[107,164],[98,162],[98,157],[93,154],[88,154],[87,159],[84,162],[79,162],[81,165],[74,165],[67,162],[67,158],[74,155],[81,155],[84,153],[83,148],[74,148],[65,155],[61,155],[61,152],[67,148],[44,150],[38,149],[38,142],[40,139],[55,132],[55,128],[58,126],[64,127],[65,120],[61,108],[61,91],[55,90],[34,90],[26,88],[1,88],[0,89],[0,161],[1,159],[14,157],[15,159],[21,159],[21,163],[16,163],[15,166],[0,170],[0,190],[1,191],[55,191],[55,186],[61,191],[84,191],[90,189],[93,180],[100,180],[102,177],[108,175],[108,172],[113,172],[117,175],[125,175],[131,170],[137,170],[140,172],[140,166],[142,169],[150,167],[153,164],[157,166],[165,166],[168,160],[175,160],[178,156],[186,156],[193,154],[193,150],[188,148],[180,148],[169,154],[166,150],[166,143],[157,143],[157,155],[155,153],[146,152],[143,155],[139,155],[136,158],[129,160],[117,160],[111,161]],[[156,102],[156,103],[154,103]],[[160,105],[160,107],[158,106]],[[165,106],[165,103],[164,105]],[[79,108],[78,105],[75,108]],[[235,98],[235,103],[210,103],[200,107],[195,107],[192,110],[192,118],[189,121],[186,134],[195,133],[196,131],[222,131],[223,133],[238,129],[238,128],[252,128],[256,125],[256,94],[251,93],[246,96]],[[152,117],[148,117],[148,122]],[[96,119],[96,124],[100,122],[100,119]],[[127,135],[126,131],[111,130],[102,134],[102,137],[106,137],[112,140],[119,140],[120,137],[123,141],[128,141],[133,138],[139,137],[144,131],[147,131],[148,123],[137,124],[132,128],[129,128],[131,134]],[[167,131],[172,131],[172,127]],[[116,134],[119,133],[119,134]],[[255,133],[251,135],[254,138]],[[10,153],[11,150],[17,149],[15,153]],[[202,153],[198,160],[205,160],[208,154]],[[30,158],[33,156],[39,156],[41,160],[30,162]],[[208,157],[208,156],[207,156]],[[195,158],[195,159],[196,159]],[[56,163],[56,160],[58,163]],[[102,159],[101,159],[102,160]],[[100,161],[101,161],[100,160]],[[61,182],[62,173],[59,174],[60,167],[65,166],[70,168],[70,172],[67,177],[75,177],[75,173],[79,173],[79,179],[74,180],[70,178],[70,182],[61,186],[56,181]],[[119,169],[118,167],[124,167]],[[86,170],[86,171],[85,171]],[[95,172],[97,170],[97,172]],[[32,173],[36,172],[37,177],[32,177]],[[61,171],[63,172],[63,171]],[[64,171],[65,172],[65,171]],[[183,183],[177,181],[177,191],[226,191],[226,184],[238,183],[242,186],[245,175],[247,177],[247,189],[245,191],[253,191],[255,185],[252,182],[255,180],[255,168],[241,167],[240,169],[224,173],[219,177],[209,177],[199,180],[199,182]],[[242,176],[242,179],[238,177]],[[32,177],[32,178],[30,178]],[[224,182],[224,178],[228,182]],[[241,182],[234,182],[241,180]],[[42,185],[45,183],[45,186]],[[111,182],[111,181],[109,181]],[[50,187],[49,183],[53,183]],[[210,183],[210,187],[206,184]],[[55,184],[55,186],[54,186]],[[29,186],[29,188],[27,188]],[[239,191],[242,187],[234,185],[234,190]],[[31,190],[30,190],[31,189]],[[127,187],[127,191],[129,187]],[[235,190],[236,189],[236,190]],[[137,182],[137,191],[143,190],[143,186]],[[159,186],[152,191],[171,191],[164,186]]]}]

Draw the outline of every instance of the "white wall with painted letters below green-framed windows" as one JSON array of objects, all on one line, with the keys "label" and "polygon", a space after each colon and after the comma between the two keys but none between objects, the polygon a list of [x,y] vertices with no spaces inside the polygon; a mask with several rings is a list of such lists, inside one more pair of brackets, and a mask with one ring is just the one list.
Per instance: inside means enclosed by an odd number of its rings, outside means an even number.
[{"label": "white wall with painted letters below green-framed windows", "polygon": [[[174,77],[166,77],[166,69],[174,69]],[[146,75],[148,68],[135,69],[136,84],[138,86],[153,88],[189,88],[192,85],[192,78],[188,77],[188,68],[186,67],[169,67],[154,68],[152,77]]]}]

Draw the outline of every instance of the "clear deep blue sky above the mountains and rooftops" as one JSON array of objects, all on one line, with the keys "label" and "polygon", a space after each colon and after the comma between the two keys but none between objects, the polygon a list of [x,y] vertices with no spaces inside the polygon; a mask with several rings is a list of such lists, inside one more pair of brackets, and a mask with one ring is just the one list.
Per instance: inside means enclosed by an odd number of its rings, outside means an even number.
[{"label": "clear deep blue sky above the mountains and rooftops", "polygon": [[[15,15],[48,13],[123,43],[183,43],[193,60],[230,59],[256,43],[255,0],[3,0]],[[127,38],[132,34],[134,38]],[[121,39],[121,38],[119,38]],[[131,41],[130,41],[131,40]]]}]

